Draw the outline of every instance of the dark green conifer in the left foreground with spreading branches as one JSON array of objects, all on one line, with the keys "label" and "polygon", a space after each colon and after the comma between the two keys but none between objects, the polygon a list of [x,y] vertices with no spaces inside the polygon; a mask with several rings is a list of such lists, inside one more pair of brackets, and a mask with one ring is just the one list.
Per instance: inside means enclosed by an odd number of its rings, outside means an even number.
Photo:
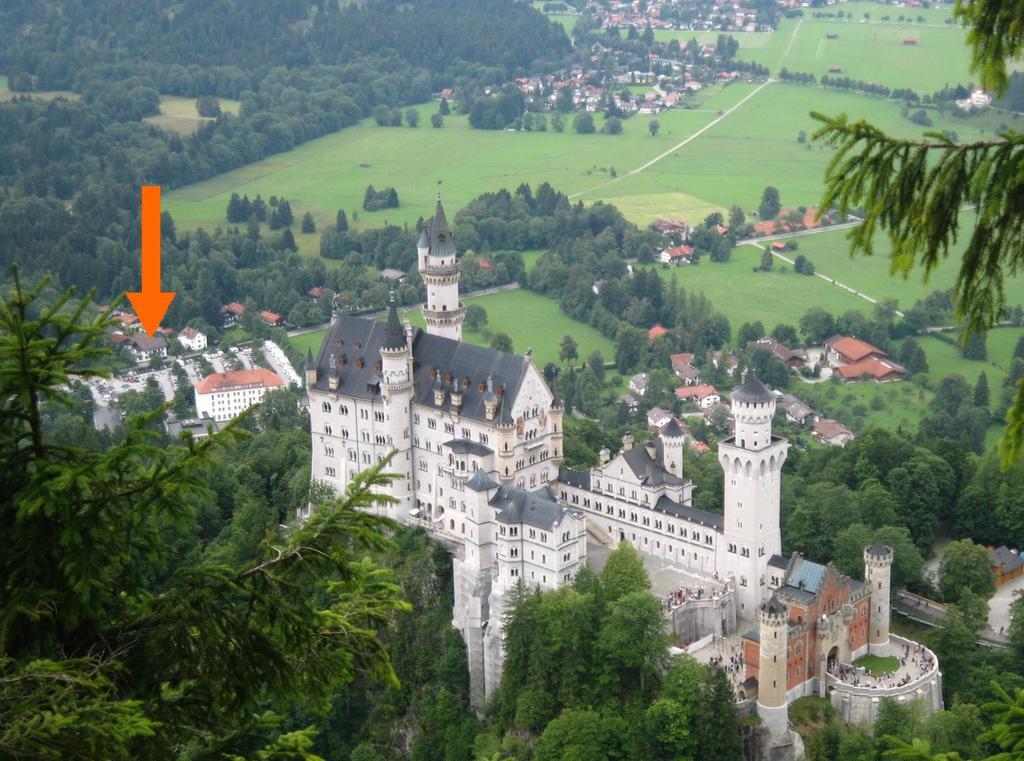
[{"label": "dark green conifer in the left foreground with spreading branches", "polygon": [[[195,510],[239,429],[158,446],[129,421],[105,451],[52,440],[69,376],[102,375],[110,312],[13,271],[0,299],[0,748],[14,758],[293,757],[279,706],[357,675],[396,683],[375,631],[408,610],[364,559],[392,548],[387,461],[238,564],[196,542]],[[38,316],[33,316],[38,315]],[[17,357],[17,358],[12,358]],[[190,543],[186,544],[186,543]],[[188,547],[188,551],[181,550]],[[168,700],[173,696],[172,700]]]}]

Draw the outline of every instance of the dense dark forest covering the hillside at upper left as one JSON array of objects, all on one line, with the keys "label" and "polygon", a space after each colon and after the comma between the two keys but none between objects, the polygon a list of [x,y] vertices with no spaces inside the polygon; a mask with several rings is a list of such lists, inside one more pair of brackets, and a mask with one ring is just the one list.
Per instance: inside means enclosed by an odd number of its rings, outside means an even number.
[{"label": "dense dark forest covering the hillside at upper left", "polygon": [[[0,265],[45,265],[59,283],[102,298],[137,282],[141,184],[205,179],[351,125],[378,104],[507,81],[568,47],[560,27],[499,0],[455,0],[458,12],[440,0],[415,12],[383,0],[315,12],[298,0],[258,8],[194,0],[173,12],[163,3],[162,13],[100,5],[0,8],[0,70],[12,83],[82,95],[0,104]],[[484,34],[492,25],[509,34]],[[157,113],[161,93],[234,97],[241,108],[181,136],[138,121]]]}]

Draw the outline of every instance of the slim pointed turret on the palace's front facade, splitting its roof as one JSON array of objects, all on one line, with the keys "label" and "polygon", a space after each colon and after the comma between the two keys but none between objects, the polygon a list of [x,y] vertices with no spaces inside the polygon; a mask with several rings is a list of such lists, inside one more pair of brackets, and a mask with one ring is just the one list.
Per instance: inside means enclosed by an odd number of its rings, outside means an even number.
[{"label": "slim pointed turret on the palace's front facade, splitting its roof", "polygon": [[401,474],[388,490],[398,500],[390,510],[413,508],[413,453],[411,435],[413,407],[413,347],[398,320],[398,309],[391,297],[384,340],[381,342],[381,397],[384,400],[384,428],[388,446],[396,449],[388,470]]}]

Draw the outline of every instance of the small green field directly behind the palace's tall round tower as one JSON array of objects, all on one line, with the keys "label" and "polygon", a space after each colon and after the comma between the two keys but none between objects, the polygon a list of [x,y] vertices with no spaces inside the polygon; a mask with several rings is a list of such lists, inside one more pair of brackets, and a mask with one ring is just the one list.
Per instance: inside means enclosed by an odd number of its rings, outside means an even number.
[{"label": "small green field directly behind the palace's tall round tower", "polygon": [[[593,351],[600,351],[605,360],[614,356],[614,344],[584,323],[570,320],[559,308],[558,304],[545,296],[524,290],[504,291],[478,298],[466,299],[467,304],[480,304],[487,310],[488,327],[495,332],[504,331],[512,338],[512,346],[516,353],[525,353],[532,348],[534,363],[538,368],[553,362],[559,364],[558,347],[562,337],[571,335],[580,345],[582,358]],[[424,327],[419,310],[408,312],[410,322],[420,328]],[[404,321],[406,315],[402,316]],[[557,328],[553,328],[557,326]],[[326,331],[314,331],[292,338],[292,344],[302,353],[306,347],[313,353],[319,350]],[[463,338],[479,346],[489,345],[489,340],[481,333],[466,331]]]}]

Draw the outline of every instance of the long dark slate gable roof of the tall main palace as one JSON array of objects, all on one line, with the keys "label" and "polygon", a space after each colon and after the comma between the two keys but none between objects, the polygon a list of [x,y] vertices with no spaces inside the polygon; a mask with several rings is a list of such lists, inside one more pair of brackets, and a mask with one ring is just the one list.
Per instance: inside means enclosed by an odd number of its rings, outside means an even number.
[{"label": "long dark slate gable roof of the tall main palace", "polygon": [[[380,399],[380,348],[385,339],[387,326],[377,320],[344,316],[331,326],[327,338],[316,357],[316,382],[312,385],[318,391],[329,391],[328,374],[331,358],[335,358],[335,369],[339,375],[335,393],[362,399]],[[340,366],[344,356],[345,365]],[[356,360],[362,357],[361,368]],[[431,370],[437,370],[437,377],[453,376],[462,386],[462,407],[459,414],[481,422],[488,422],[483,400],[487,395],[486,381],[493,379],[494,386],[505,387],[505,398],[509,405],[515,404],[522,380],[526,376],[528,362],[518,354],[508,354],[494,349],[473,346],[451,338],[430,335],[416,328],[413,331],[413,382],[416,398],[420,405],[435,407],[434,383]],[[469,385],[464,381],[469,379]],[[480,391],[483,384],[484,390]],[[445,397],[443,409],[451,403]]]}]

